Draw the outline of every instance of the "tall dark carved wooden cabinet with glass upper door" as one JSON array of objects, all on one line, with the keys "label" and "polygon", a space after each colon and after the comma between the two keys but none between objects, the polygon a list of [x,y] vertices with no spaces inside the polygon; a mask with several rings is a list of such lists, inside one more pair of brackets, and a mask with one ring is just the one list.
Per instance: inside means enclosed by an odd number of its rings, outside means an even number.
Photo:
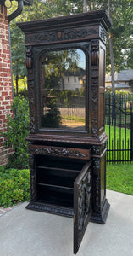
[{"label": "tall dark carved wooden cabinet with glass upper door", "polygon": [[19,23],[30,100],[28,209],[74,218],[74,253],[89,220],[105,223],[106,11]]}]

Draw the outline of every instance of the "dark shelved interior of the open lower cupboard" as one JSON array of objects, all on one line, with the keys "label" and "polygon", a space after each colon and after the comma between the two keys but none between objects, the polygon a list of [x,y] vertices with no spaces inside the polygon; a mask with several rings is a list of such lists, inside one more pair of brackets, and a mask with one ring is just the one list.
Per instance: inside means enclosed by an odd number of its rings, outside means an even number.
[{"label": "dark shelved interior of the open lower cupboard", "polygon": [[85,162],[36,158],[37,201],[73,208],[74,182]]}]

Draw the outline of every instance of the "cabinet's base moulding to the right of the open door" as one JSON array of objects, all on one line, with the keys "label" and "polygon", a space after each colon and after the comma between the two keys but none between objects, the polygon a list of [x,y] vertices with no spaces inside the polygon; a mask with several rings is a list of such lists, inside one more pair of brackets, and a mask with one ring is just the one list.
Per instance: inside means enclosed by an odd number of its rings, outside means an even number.
[{"label": "cabinet's base moulding to the right of the open door", "polygon": [[110,207],[110,205],[109,205],[107,199],[105,199],[102,212],[100,212],[100,213],[93,212],[91,215],[90,221],[99,223],[99,224],[105,224],[107,216],[108,216],[109,207]]}]

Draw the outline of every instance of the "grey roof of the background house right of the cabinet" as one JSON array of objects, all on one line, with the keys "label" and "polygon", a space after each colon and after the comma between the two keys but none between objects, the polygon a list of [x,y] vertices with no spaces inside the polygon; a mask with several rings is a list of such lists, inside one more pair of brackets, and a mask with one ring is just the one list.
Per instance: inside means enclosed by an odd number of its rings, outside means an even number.
[{"label": "grey roof of the background house right of the cabinet", "polygon": [[[133,69],[122,70],[120,73],[114,73],[114,81],[130,81],[133,79]],[[111,82],[110,75],[106,75],[105,82]]]}]

